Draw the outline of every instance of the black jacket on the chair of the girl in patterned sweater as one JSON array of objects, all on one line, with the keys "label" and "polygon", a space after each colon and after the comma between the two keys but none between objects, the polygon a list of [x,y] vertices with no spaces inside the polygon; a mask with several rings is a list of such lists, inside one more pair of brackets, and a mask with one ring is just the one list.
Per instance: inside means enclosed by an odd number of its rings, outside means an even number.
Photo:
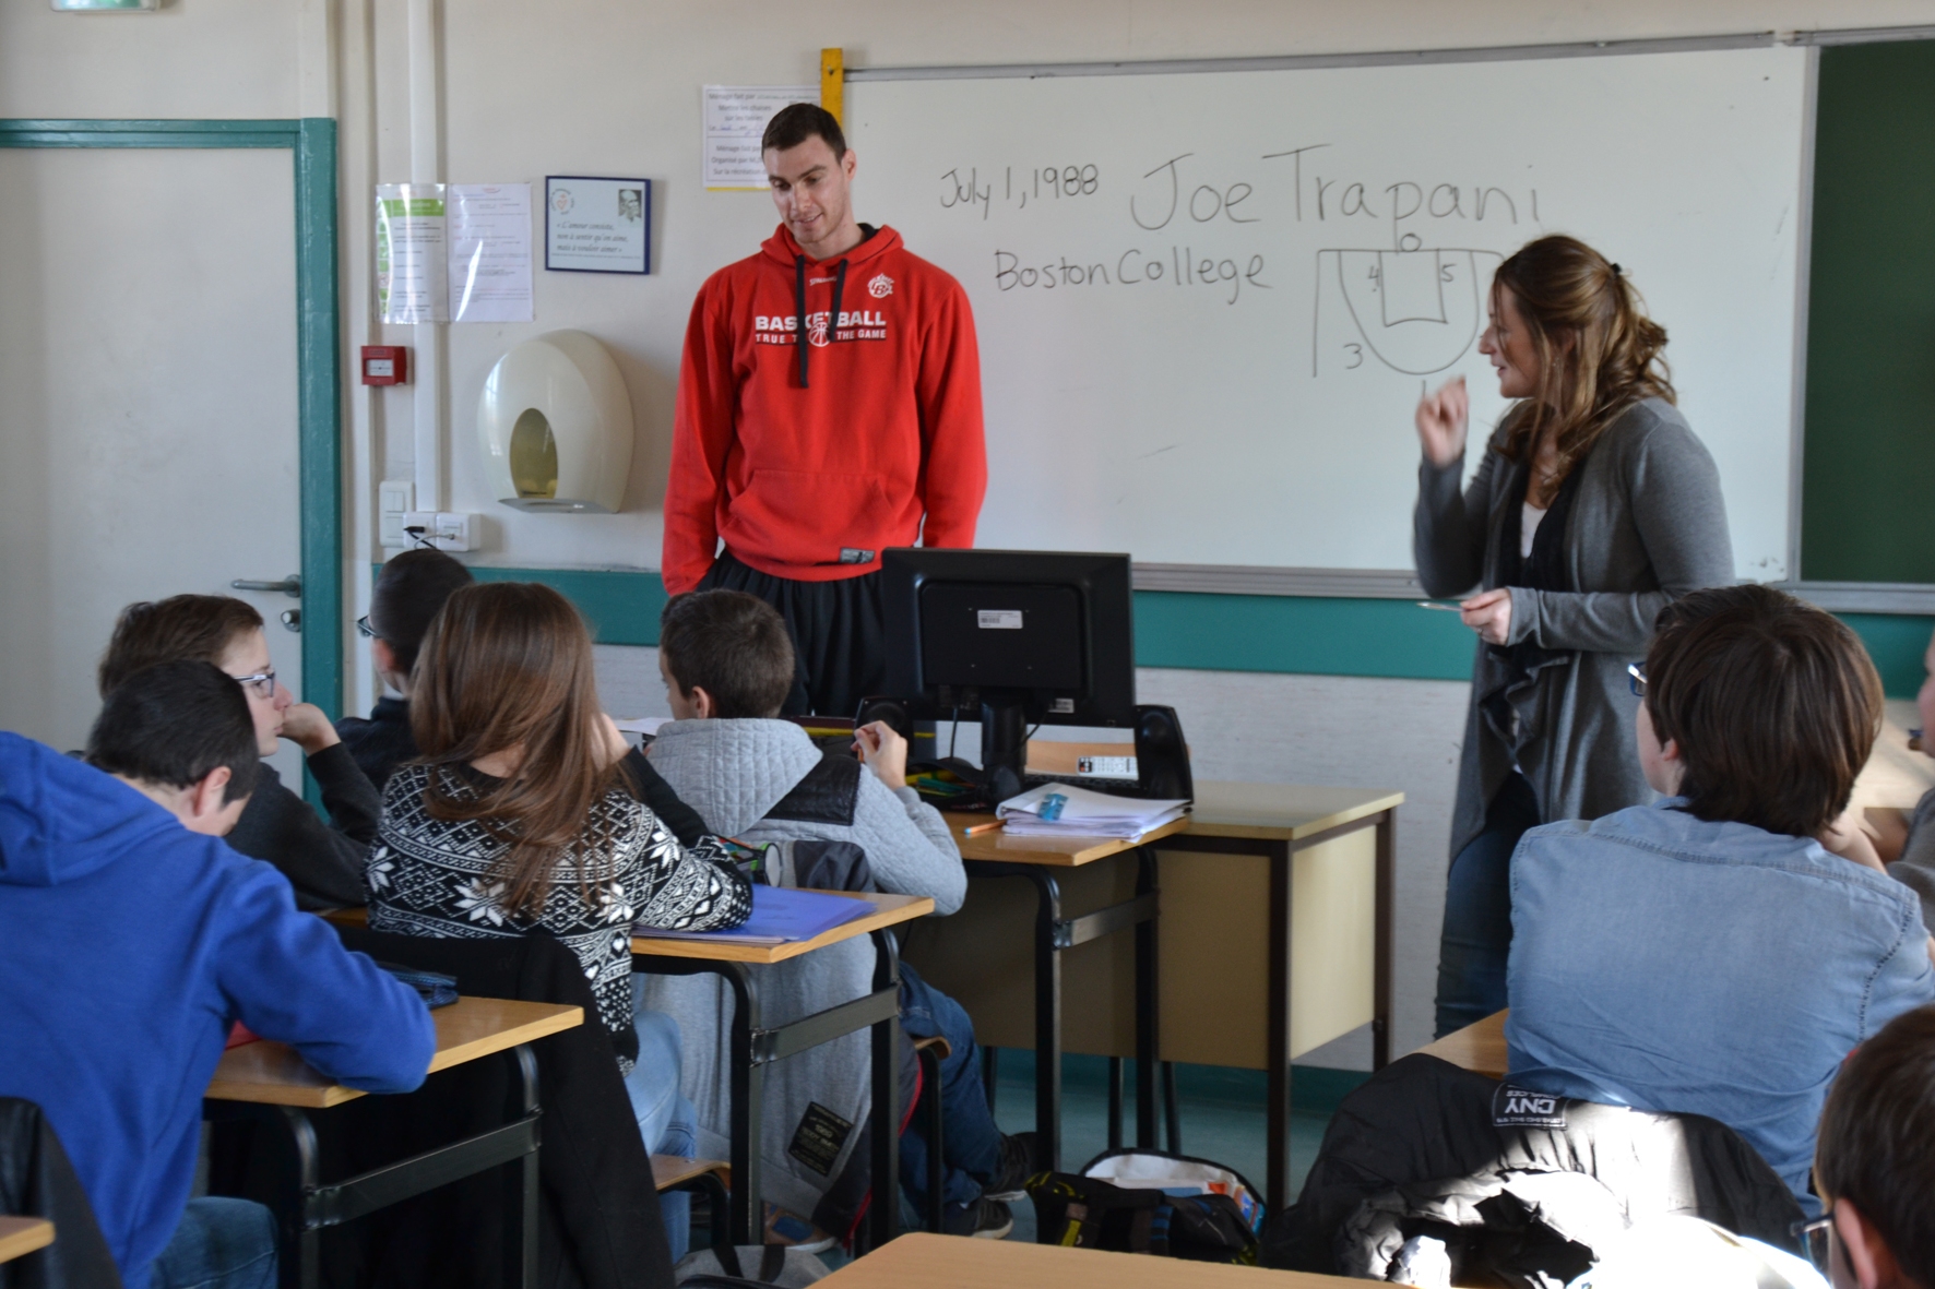
[{"label": "black jacket on the chair of the girl in patterned sweater", "polygon": [[[339,927],[346,948],[457,977],[457,991],[488,999],[565,1003],[584,1024],[532,1043],[538,1059],[538,1285],[546,1289],[660,1289],[671,1281],[671,1252],[660,1217],[652,1159],[639,1138],[608,1030],[598,1024],[577,956],[546,935],[447,941]],[[430,1076],[408,1095],[360,1097],[313,1115],[325,1183],[507,1121],[511,1057],[470,1061]],[[211,1190],[271,1198],[263,1128],[219,1124]],[[242,1128],[242,1130],[238,1130]],[[323,1241],[325,1283],[488,1289],[503,1285],[507,1237],[503,1175],[441,1186]]]}]

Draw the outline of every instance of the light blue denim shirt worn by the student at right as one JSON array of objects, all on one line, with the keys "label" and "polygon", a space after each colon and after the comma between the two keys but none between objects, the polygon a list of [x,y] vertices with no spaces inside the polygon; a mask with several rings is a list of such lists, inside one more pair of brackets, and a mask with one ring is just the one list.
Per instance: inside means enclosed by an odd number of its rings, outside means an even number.
[{"label": "light blue denim shirt worn by the student at right", "polygon": [[1921,904],[1817,842],[1674,797],[1533,828],[1511,857],[1509,1070],[1732,1126],[1801,1208],[1842,1059],[1935,1001]]}]

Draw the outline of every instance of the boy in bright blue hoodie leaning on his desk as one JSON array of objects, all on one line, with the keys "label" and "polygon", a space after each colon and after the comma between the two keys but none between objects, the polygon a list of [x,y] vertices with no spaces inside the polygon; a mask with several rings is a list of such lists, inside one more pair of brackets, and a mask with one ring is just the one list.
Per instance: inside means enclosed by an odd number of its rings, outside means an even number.
[{"label": "boy in bright blue hoodie leaning on his desk", "polygon": [[430,1012],[219,840],[261,774],[219,668],[124,679],[87,759],[0,734],[0,1095],[41,1103],[128,1289],[269,1289],[269,1210],[188,1198],[230,1026],[350,1088],[410,1092]]}]

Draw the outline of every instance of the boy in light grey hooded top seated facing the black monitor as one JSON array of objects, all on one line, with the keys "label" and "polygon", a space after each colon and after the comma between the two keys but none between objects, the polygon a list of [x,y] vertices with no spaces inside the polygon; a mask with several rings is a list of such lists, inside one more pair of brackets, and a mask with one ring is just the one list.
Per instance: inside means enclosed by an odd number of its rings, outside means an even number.
[{"label": "boy in light grey hooded top seated facing the black monitor", "polygon": [[[882,724],[865,726],[855,763],[822,755],[805,730],[774,720],[793,683],[791,637],[778,610],[739,590],[673,596],[660,619],[658,662],[677,720],[660,726],[652,764],[716,832],[745,842],[853,842],[867,852],[880,890],[933,896],[938,914],[960,908],[968,892],[960,848],[940,813],[906,786],[906,739]],[[867,993],[873,960],[867,941],[848,941],[772,964],[759,974],[760,999],[774,1012],[805,1016]],[[900,977],[906,1032],[938,1034],[950,1045],[940,1066],[948,1229],[998,1239],[1014,1225],[1002,1200],[1018,1198],[1035,1171],[1035,1138],[1002,1136],[995,1126],[968,1012],[906,962]],[[708,1154],[726,1150],[731,1086],[729,1068],[718,1061],[720,1016],[729,1014],[724,983],[708,975],[648,977],[642,997],[685,1028],[685,1088],[700,1105],[700,1142]],[[849,1229],[865,1186],[867,1157],[857,1150],[855,1124],[869,1113],[867,1070],[867,1035],[851,1034],[766,1074],[774,1124],[764,1154],[766,1194],[813,1215],[824,1231]],[[809,1136],[822,1132],[830,1157],[789,1148],[795,1124]],[[927,1142],[919,1121],[902,1142],[902,1186],[915,1206],[925,1206]]]}]

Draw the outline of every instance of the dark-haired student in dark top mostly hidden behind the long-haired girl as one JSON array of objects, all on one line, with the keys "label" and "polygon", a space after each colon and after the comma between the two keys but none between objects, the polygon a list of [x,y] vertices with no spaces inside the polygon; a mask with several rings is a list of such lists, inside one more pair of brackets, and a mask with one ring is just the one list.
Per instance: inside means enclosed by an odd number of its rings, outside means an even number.
[{"label": "dark-haired student in dark top mostly hidden behind the long-haired girl", "polygon": [[337,735],[377,792],[383,792],[399,764],[416,757],[416,739],[410,735],[410,668],[416,666],[416,650],[443,602],[470,581],[470,569],[441,550],[406,550],[377,573],[370,615],[356,629],[370,637],[370,662],[375,664],[377,679],[401,697],[379,697],[370,720],[344,716],[337,722]]}]

